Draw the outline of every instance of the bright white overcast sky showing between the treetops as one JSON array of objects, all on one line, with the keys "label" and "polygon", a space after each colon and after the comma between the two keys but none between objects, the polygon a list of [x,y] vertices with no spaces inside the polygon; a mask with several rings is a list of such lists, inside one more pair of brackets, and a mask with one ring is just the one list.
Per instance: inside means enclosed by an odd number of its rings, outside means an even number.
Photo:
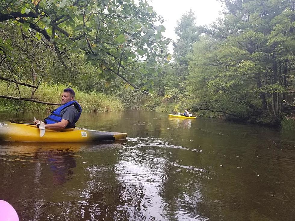
[{"label": "bright white overcast sky showing between the treetops", "polygon": [[[165,21],[163,25],[166,28],[162,33],[166,38],[172,38],[176,41],[175,26],[180,20],[181,15],[192,9],[195,13],[196,25],[209,25],[220,16],[222,4],[216,0],[149,0],[150,6],[154,11],[161,15]],[[170,48],[170,53],[172,48]]]}]

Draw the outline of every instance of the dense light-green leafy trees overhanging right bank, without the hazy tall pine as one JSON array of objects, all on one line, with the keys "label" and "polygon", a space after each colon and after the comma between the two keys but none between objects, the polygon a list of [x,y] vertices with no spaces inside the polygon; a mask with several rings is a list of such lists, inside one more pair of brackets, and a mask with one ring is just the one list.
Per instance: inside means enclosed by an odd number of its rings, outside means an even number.
[{"label": "dense light-green leafy trees overhanging right bank, without the hazy tall pine", "polygon": [[294,2],[225,4],[224,18],[203,28],[208,37],[189,57],[194,109],[278,124],[294,88]]}]

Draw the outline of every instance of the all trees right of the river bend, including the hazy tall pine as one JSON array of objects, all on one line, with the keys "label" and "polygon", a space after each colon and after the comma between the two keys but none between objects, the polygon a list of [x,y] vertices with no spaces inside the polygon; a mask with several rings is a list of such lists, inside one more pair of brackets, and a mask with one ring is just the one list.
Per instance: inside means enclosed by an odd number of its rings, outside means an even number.
[{"label": "all trees right of the river bend, including the hazy tall pine", "polygon": [[223,2],[223,18],[208,27],[182,15],[175,60],[158,68],[155,109],[280,125],[295,110],[295,2]]}]

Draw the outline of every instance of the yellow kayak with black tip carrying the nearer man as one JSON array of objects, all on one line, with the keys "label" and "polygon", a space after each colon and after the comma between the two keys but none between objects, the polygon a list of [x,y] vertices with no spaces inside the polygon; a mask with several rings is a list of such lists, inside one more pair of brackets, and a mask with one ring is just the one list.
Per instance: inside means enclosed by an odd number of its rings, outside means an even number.
[{"label": "yellow kayak with black tip carrying the nearer man", "polygon": [[0,140],[26,142],[93,142],[126,140],[126,133],[84,128],[46,129],[43,137],[35,124],[0,122]]}]

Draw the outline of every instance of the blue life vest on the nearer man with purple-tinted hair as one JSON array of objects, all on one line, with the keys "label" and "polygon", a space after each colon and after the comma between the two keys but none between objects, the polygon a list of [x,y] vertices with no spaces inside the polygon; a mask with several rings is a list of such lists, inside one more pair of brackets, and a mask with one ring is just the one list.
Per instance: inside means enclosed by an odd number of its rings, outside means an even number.
[{"label": "blue life vest on the nearer man with purple-tinted hair", "polygon": [[76,117],[74,118],[74,121],[72,122],[72,124],[75,124],[78,121],[78,119],[81,115],[81,112],[82,112],[82,108],[76,100],[70,101],[70,102],[60,106],[59,108],[53,110],[50,113],[50,115],[48,115],[48,117],[44,119],[45,124],[54,124],[57,122],[61,122],[61,120],[62,120],[61,111],[71,105],[74,105],[78,111],[78,114],[76,115]]}]

